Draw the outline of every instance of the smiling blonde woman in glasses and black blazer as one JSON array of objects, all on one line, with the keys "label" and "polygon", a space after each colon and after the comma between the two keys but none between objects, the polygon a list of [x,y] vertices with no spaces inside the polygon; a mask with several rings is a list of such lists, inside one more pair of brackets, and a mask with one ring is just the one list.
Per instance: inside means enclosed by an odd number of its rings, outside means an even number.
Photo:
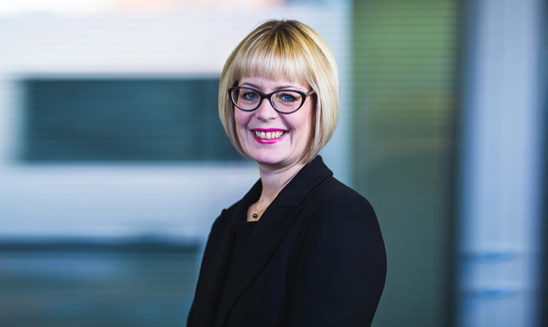
[{"label": "smiling blonde woman in glasses and black blazer", "polygon": [[214,222],[188,326],[369,326],[386,252],[375,212],[319,151],[338,114],[338,68],[297,21],[269,21],[228,58],[219,115],[260,180]]}]

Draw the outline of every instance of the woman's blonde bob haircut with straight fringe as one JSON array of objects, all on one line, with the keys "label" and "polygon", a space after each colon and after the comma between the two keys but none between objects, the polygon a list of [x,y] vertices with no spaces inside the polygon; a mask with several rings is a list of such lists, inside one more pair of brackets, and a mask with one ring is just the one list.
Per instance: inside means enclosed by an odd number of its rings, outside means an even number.
[{"label": "woman's blonde bob haircut with straight fringe", "polygon": [[245,77],[287,79],[314,90],[308,163],[331,139],[338,118],[339,81],[335,57],[312,28],[298,21],[266,21],[232,51],[219,83],[219,118],[234,148],[242,155],[236,134],[234,105],[228,88]]}]

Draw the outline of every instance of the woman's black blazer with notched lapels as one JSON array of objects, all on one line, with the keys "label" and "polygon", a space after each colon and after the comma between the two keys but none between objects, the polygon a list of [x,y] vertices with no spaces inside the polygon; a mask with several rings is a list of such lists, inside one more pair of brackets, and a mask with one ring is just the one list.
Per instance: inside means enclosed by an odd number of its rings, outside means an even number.
[{"label": "woman's black blazer with notched lapels", "polygon": [[[316,157],[256,222],[225,280],[236,232],[262,184],[214,222],[187,326],[370,326],[386,252],[369,202]],[[223,285],[225,286],[223,292]]]}]

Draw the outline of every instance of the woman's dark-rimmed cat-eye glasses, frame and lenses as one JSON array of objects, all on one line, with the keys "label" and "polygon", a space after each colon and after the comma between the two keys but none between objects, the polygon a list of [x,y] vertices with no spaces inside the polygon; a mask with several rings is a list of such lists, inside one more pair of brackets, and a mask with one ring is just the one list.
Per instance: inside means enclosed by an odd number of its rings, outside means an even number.
[{"label": "woman's dark-rimmed cat-eye glasses, frame and lenses", "polygon": [[277,90],[264,94],[253,88],[235,86],[228,89],[232,103],[245,112],[257,109],[264,99],[268,99],[272,107],[280,114],[291,114],[301,109],[306,97],[314,93],[314,90],[305,93],[297,90]]}]

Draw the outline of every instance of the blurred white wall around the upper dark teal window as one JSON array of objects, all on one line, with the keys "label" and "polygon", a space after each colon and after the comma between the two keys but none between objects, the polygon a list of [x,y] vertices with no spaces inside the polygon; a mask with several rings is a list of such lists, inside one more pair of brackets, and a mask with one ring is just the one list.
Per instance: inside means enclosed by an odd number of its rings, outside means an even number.
[{"label": "blurred white wall around the upper dark teal window", "polygon": [[269,18],[299,19],[332,47],[343,100],[322,155],[349,183],[350,17],[348,5],[315,5],[0,18],[0,237],[206,237],[221,209],[258,179],[256,166],[22,164],[16,82],[29,75],[220,75],[236,44]]}]

